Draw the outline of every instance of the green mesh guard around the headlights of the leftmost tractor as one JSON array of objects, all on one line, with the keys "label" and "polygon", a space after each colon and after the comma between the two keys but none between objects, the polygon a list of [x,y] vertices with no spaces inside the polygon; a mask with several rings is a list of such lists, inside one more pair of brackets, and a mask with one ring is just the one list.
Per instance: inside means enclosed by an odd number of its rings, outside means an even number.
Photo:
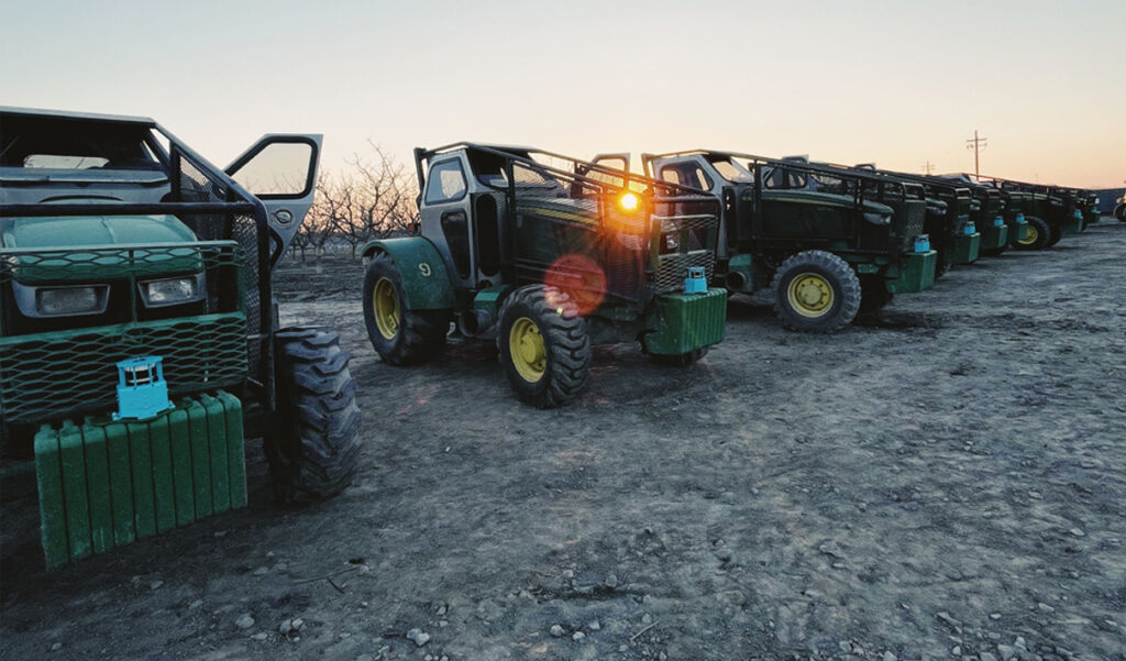
[{"label": "green mesh guard around the headlights of the leftmost tractor", "polygon": [[[206,296],[190,316],[152,320],[137,284],[202,273]],[[232,241],[70,250],[0,249],[0,293],[11,284],[109,283],[120,304],[102,316],[29,319],[6,306],[0,337],[0,417],[37,422],[105,411],[116,402],[115,363],[161,356],[173,393],[234,386],[247,376],[242,250]],[[161,309],[153,309],[161,310]],[[74,328],[77,322],[82,328]],[[55,325],[52,325],[55,324]]]}]

